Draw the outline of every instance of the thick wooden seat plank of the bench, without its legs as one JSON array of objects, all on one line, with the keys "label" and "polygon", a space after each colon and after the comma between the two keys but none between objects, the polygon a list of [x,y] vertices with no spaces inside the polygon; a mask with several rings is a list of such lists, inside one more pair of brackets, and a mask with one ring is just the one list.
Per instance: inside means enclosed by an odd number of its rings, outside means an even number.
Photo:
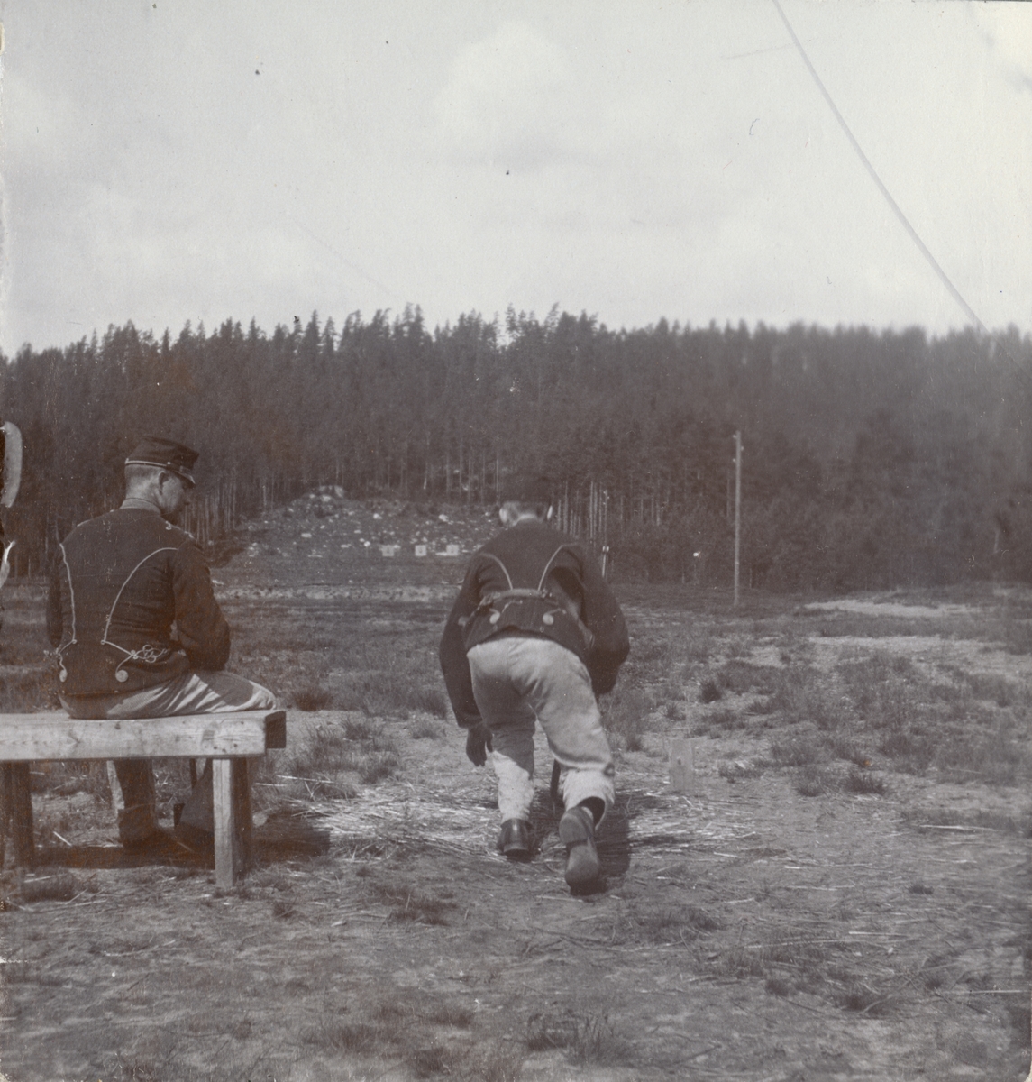
[{"label": "thick wooden seat plank of the bench, without its legs", "polygon": [[0,714],[0,762],[220,758],[286,747],[282,710],[92,721],[58,711]]}]

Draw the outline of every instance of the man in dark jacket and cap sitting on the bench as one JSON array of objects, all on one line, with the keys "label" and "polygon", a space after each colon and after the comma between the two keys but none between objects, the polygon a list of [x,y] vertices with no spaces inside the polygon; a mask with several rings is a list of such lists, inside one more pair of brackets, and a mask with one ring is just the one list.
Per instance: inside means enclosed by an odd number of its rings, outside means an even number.
[{"label": "man in dark jacket and cap sitting on the bench", "polygon": [[[223,672],[229,626],[197,542],[175,523],[194,488],[197,451],[146,437],[125,460],[125,499],[62,542],[47,601],[61,660],[61,701],[72,717],[168,717],[276,704],[267,688]],[[158,827],[146,760],[115,763],[123,846],[174,844]],[[177,828],[211,843],[211,762]]]}]

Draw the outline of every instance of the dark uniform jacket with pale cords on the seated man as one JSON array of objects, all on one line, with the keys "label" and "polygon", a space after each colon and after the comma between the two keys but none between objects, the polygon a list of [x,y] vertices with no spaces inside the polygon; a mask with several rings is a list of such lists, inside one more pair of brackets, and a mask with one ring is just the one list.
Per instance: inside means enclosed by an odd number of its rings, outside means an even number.
[{"label": "dark uniform jacket with pale cords on the seated man", "polygon": [[138,691],[191,669],[217,671],[229,658],[229,625],[197,542],[137,507],[91,518],[65,538],[47,632],[63,695]]}]

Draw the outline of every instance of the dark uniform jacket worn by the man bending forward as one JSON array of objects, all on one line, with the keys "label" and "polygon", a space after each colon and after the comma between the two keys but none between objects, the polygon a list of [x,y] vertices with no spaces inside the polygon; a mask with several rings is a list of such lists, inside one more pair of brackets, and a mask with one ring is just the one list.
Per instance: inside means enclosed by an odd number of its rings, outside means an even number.
[{"label": "dark uniform jacket worn by the man bending forward", "polygon": [[598,565],[575,538],[539,522],[502,530],[474,553],[445,625],[440,667],[465,728],[480,721],[466,650],[497,635],[543,635],[572,650],[596,695],[612,690],[631,648]]}]

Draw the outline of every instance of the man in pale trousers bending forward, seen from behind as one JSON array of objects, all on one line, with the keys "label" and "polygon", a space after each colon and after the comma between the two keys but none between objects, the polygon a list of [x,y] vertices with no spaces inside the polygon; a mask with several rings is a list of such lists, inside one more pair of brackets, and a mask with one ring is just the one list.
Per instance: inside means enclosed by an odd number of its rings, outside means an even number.
[{"label": "man in pale trousers bending forward, seen from behind", "polygon": [[498,776],[499,852],[531,855],[534,722],[560,767],[566,882],[599,872],[595,828],[613,801],[614,767],[596,696],[612,689],[630,650],[620,606],[597,564],[550,527],[546,480],[507,486],[505,527],[476,552],[440,643],[440,664],[466,755]]}]

